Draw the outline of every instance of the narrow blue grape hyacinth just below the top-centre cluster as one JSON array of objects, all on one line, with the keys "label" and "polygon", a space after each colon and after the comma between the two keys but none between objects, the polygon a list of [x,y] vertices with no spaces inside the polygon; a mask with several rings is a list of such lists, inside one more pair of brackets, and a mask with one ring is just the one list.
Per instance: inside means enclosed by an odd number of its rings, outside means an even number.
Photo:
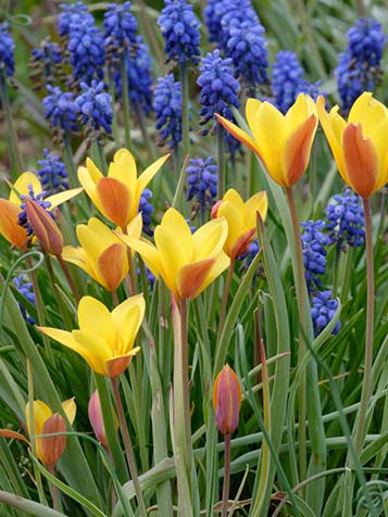
[{"label": "narrow blue grape hyacinth just below the top-centre cluster", "polygon": [[175,148],[182,140],[182,87],[168,74],[158,79],[153,97],[160,143]]}]

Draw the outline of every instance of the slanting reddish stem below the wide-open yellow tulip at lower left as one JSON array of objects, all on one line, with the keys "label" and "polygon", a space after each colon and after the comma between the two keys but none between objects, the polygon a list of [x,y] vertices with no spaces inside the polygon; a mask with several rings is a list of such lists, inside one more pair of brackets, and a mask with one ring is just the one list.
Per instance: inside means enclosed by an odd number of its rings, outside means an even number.
[{"label": "slanting reddish stem below the wide-open yellow tulip at lower left", "polygon": [[117,413],[118,413],[120,430],[121,430],[121,433],[122,433],[122,437],[123,437],[123,442],[124,442],[124,447],[125,447],[125,455],[126,455],[126,458],[127,458],[127,463],[128,463],[128,467],[129,467],[129,471],[130,471],[130,477],[132,477],[132,480],[133,480],[133,483],[134,483],[137,503],[139,505],[139,513],[140,513],[141,517],[147,517],[146,503],[145,503],[145,500],[143,500],[142,493],[141,493],[141,488],[140,488],[140,483],[139,483],[139,476],[138,476],[138,472],[137,472],[137,466],[136,466],[134,450],[133,450],[133,446],[132,446],[132,443],[130,443],[130,437],[129,437],[127,421],[125,419],[122,398],[120,396],[117,377],[112,377],[111,381],[112,381],[114,400],[115,400],[116,407],[117,407]]}]

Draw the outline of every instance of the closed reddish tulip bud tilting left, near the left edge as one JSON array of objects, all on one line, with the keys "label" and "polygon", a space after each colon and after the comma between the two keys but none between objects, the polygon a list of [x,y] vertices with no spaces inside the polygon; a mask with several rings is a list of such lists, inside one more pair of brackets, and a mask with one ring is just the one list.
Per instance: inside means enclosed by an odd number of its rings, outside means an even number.
[{"label": "closed reddish tulip bud tilting left, near the left edge", "polygon": [[51,215],[32,199],[27,198],[25,203],[28,222],[42,249],[50,255],[61,255],[63,237]]}]

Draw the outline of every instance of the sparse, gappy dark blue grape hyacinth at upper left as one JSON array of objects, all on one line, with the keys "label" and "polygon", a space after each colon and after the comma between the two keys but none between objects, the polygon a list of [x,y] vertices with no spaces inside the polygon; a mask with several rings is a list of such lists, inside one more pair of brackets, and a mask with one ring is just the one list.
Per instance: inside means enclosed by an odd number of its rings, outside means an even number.
[{"label": "sparse, gappy dark blue grape hyacinth at upper left", "polygon": [[[53,43],[49,37],[45,38],[40,46],[32,50],[32,68],[34,71],[33,79],[38,79],[37,87],[52,85],[60,73],[60,63],[62,63],[62,53],[60,46]],[[43,80],[43,85],[40,83]]]}]

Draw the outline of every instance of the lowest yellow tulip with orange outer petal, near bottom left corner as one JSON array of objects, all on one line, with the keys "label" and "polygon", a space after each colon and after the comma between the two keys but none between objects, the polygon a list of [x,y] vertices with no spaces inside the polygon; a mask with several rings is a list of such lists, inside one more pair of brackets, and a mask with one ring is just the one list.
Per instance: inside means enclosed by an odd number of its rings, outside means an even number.
[{"label": "lowest yellow tulip with orange outer petal, near bottom left corner", "polygon": [[[73,424],[76,413],[76,405],[74,399],[68,399],[62,402],[63,411],[65,412],[68,421]],[[35,447],[36,455],[47,467],[53,467],[62,456],[62,453],[66,446],[66,436],[53,436],[39,438],[39,434],[54,434],[57,432],[66,431],[66,423],[59,413],[52,413],[50,407],[41,401],[34,401],[33,404],[34,414],[34,433],[35,433]],[[26,424],[28,434],[32,433],[30,426],[30,408],[29,403],[25,409]]]}]

